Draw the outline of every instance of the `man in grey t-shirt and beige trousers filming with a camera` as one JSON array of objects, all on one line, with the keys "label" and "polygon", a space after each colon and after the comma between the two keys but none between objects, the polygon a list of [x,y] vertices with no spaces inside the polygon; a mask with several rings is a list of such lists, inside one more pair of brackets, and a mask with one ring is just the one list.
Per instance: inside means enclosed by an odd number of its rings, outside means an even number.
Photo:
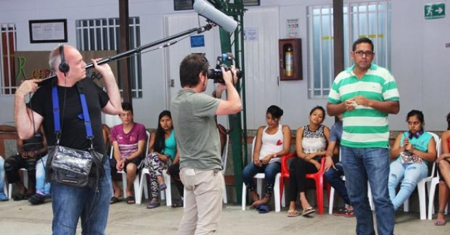
[{"label": "man in grey t-shirt and beige trousers filming with a camera", "polygon": [[242,110],[234,82],[236,68],[221,68],[227,100],[207,96],[209,63],[199,54],[186,56],[180,65],[182,89],[172,98],[170,111],[180,151],[180,177],[185,186],[185,210],[179,234],[214,234],[222,212],[223,175],[221,144],[215,115],[229,115]]}]

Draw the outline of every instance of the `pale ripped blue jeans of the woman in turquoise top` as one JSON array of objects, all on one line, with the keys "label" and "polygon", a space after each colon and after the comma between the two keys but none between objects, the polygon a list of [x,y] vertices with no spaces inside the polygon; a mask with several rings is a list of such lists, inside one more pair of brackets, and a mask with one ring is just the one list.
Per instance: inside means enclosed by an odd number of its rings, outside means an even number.
[{"label": "pale ripped blue jeans of the woman in turquoise top", "polygon": [[[389,174],[389,197],[397,210],[417,186],[417,183],[428,175],[426,161],[421,163],[403,164],[401,158],[392,161]],[[395,194],[398,183],[401,181],[400,190]]]}]

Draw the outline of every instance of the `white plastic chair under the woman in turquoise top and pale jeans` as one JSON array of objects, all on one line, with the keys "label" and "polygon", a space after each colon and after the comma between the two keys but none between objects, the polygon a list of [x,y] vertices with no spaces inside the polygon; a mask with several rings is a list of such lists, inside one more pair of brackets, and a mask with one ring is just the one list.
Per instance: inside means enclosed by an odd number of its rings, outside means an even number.
[{"label": "white plastic chair under the woman in turquoise top and pale jeans", "polygon": [[[437,153],[439,153],[440,152],[440,150],[439,150],[440,146],[438,144],[439,136],[436,135],[435,133],[431,133],[429,131],[427,131],[427,132],[433,136],[433,138],[436,142]],[[427,188],[428,188],[428,192],[429,192],[430,188],[431,188],[431,180],[434,178],[435,168],[436,168],[436,161],[433,162],[433,166],[431,168],[430,175],[417,183],[417,191],[418,191],[418,195],[419,195],[420,220],[427,219],[427,205],[426,205],[427,202],[426,202],[426,198],[425,198],[425,183],[427,184]],[[403,212],[409,212],[409,198],[406,199],[406,201],[403,203]]]}]

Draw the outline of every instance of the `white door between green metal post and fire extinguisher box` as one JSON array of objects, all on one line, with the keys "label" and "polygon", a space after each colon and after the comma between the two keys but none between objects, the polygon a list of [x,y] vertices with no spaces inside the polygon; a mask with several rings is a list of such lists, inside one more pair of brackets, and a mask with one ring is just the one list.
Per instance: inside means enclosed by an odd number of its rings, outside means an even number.
[{"label": "white door between green metal post and fire extinguisher box", "polygon": [[247,128],[266,125],[266,111],[280,105],[278,8],[251,8],[244,14]]}]

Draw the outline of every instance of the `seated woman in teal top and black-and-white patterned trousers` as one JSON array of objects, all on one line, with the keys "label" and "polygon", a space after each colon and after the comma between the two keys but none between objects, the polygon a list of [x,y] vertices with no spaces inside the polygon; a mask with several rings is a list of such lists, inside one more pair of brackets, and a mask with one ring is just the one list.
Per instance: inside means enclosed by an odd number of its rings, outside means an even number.
[{"label": "seated woman in teal top and black-and-white patterned trousers", "polygon": [[[147,209],[159,207],[158,192],[167,188],[162,176],[163,170],[176,164],[178,169],[172,167],[172,172],[179,172],[179,154],[177,150],[177,141],[175,139],[175,131],[172,126],[172,115],[170,111],[162,111],[158,117],[158,128],[156,132],[151,133],[150,142],[148,144],[150,154],[144,159],[144,167],[150,172],[150,190],[152,193],[152,201],[148,203]],[[178,177],[179,179],[179,177]],[[175,180],[177,182],[177,180]],[[170,182],[167,182],[170,183]],[[181,197],[183,197],[183,184],[177,188]],[[173,204],[174,207],[183,206],[183,202],[179,201]]]}]

